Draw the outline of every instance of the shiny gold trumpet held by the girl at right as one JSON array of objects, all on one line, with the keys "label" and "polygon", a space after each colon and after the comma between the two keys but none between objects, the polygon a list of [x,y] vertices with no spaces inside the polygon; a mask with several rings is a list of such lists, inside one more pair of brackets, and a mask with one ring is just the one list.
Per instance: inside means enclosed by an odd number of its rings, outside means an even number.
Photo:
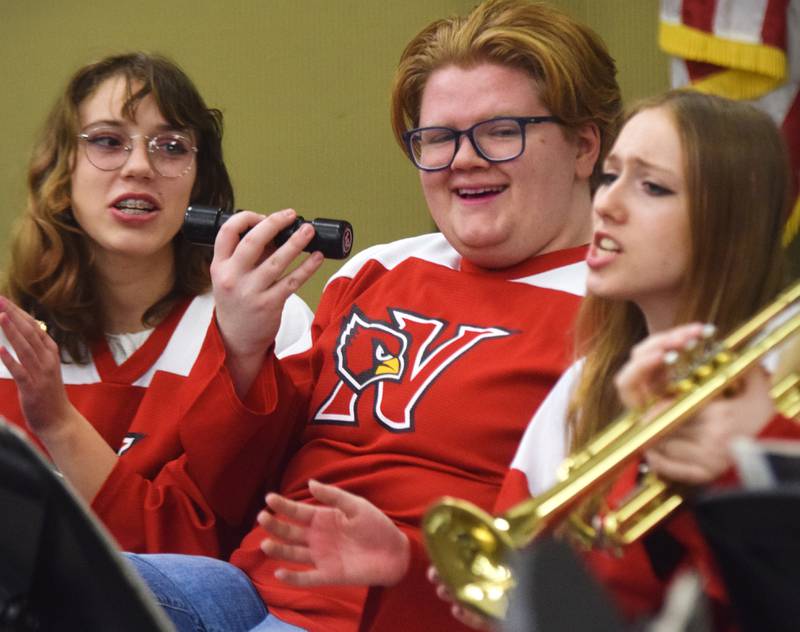
[{"label": "shiny gold trumpet held by the girl at right", "polygon": [[[736,329],[696,362],[688,376],[673,384],[674,401],[651,420],[629,411],[617,418],[559,468],[559,482],[536,498],[492,516],[464,500],[445,497],[423,518],[428,554],[439,577],[461,604],[492,619],[503,619],[516,580],[514,552],[569,519],[568,534],[594,546],[624,546],[641,537],[677,509],[677,487],[653,475],[638,493],[613,513],[592,524],[576,509],[599,487],[613,480],[634,457],[688,420],[722,393],[764,355],[800,330],[800,313],[787,317],[800,299],[800,282]],[[779,321],[775,324],[775,321]],[[800,411],[800,378],[782,376],[771,393],[784,414]]]}]

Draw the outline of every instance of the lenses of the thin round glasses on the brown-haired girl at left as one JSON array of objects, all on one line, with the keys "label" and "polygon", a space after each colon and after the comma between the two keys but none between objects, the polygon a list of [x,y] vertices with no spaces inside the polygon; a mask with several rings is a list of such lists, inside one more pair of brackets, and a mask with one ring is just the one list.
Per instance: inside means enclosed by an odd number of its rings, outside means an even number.
[{"label": "lenses of the thin round glasses on the brown-haired girl at left", "polygon": [[[103,171],[120,169],[133,151],[134,140],[113,129],[93,129],[79,138],[86,143],[86,157]],[[147,143],[150,164],[157,173],[167,178],[177,178],[192,166],[197,151],[192,140],[177,132],[142,137]]]}]

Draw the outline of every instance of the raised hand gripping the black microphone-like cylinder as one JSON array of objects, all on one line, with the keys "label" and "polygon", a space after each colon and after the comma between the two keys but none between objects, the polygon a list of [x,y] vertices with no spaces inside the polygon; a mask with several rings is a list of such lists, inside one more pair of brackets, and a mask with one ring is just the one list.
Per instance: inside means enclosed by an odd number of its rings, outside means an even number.
[{"label": "raised hand gripping the black microphone-like cylinder", "polygon": [[315,252],[289,271],[314,237],[310,224],[303,224],[274,249],[275,235],[296,216],[293,210],[267,217],[242,211],[222,225],[214,243],[211,280],[217,324],[227,352],[226,365],[241,397],[275,340],[284,303],[323,262],[322,255]]}]

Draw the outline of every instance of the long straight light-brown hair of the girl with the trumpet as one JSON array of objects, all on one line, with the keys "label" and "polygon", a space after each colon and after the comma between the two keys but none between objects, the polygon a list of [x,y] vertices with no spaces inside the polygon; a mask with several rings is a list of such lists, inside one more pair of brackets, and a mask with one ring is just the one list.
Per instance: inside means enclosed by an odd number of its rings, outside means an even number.
[{"label": "long straight light-brown hair of the girl with the trumpet", "polygon": [[[783,285],[781,233],[791,203],[783,137],[761,110],[692,91],[643,101],[627,119],[654,108],[674,121],[688,192],[689,268],[674,324],[710,322],[725,335]],[[568,415],[573,448],[622,412],[611,378],[647,333],[633,302],[583,301],[577,349],[586,364]]]}]

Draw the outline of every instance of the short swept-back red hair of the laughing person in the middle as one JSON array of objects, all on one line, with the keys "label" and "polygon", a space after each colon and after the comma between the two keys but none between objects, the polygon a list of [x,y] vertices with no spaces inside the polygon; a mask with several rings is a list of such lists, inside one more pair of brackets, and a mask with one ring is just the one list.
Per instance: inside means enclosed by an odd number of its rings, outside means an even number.
[{"label": "short swept-back red hair of the laughing person in the middle", "polygon": [[567,130],[597,125],[601,143],[591,179],[594,190],[622,118],[616,65],[594,31],[546,4],[487,0],[467,16],[433,22],[411,40],[392,87],[392,128],[403,150],[403,134],[419,125],[431,74],[448,65],[482,62],[528,73],[544,106]]}]

